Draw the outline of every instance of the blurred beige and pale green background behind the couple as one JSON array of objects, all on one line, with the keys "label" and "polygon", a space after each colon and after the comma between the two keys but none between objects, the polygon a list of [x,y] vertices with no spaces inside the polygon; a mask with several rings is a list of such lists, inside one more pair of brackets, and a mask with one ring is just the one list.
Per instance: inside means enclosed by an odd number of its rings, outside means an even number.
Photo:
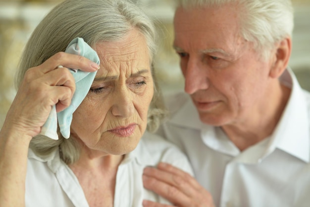
[{"label": "blurred beige and pale green background behind the couple", "polygon": [[[0,0],[0,128],[15,96],[14,75],[31,32],[62,0]],[[183,90],[178,56],[172,50],[173,7],[170,0],[139,0],[160,31],[156,71],[164,93]],[[292,0],[295,30],[290,66],[302,87],[310,90],[310,0]]]}]

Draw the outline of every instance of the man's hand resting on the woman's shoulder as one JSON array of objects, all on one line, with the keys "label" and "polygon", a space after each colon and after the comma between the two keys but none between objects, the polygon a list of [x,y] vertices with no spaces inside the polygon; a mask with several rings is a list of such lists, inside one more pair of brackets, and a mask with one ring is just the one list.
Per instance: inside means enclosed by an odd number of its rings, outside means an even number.
[{"label": "man's hand resting on the woman's shoulder", "polygon": [[[143,174],[146,189],[170,201],[177,207],[214,207],[212,196],[191,175],[170,164],[146,167]],[[144,201],[144,207],[170,207]]]}]

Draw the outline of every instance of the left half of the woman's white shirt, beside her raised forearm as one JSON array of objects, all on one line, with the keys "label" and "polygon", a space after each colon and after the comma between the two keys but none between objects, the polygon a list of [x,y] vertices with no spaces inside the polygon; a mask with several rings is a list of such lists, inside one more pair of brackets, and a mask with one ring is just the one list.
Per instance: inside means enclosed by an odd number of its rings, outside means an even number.
[{"label": "left half of the woman's white shirt, beside her raised forearm", "polygon": [[60,160],[58,149],[46,156],[29,149],[25,189],[26,207],[74,207],[73,201],[87,204],[76,177]]}]

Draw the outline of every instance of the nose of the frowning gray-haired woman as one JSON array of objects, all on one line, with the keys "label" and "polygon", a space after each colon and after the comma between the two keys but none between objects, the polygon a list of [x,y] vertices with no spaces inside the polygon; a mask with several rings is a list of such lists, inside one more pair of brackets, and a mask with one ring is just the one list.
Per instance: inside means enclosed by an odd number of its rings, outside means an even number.
[{"label": "nose of the frowning gray-haired woman", "polygon": [[130,90],[124,86],[114,94],[112,114],[121,118],[127,118],[133,115],[134,110],[133,96]]}]

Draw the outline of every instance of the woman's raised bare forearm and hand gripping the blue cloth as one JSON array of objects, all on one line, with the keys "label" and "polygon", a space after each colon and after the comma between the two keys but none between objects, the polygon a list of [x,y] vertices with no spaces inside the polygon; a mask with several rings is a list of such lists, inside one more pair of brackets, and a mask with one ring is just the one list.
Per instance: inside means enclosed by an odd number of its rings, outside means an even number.
[{"label": "woman's raised bare forearm and hand gripping the blue cloth", "polygon": [[96,71],[90,60],[57,53],[28,69],[0,131],[0,207],[25,206],[25,180],[30,140],[38,135],[52,106],[61,111],[71,103],[75,81],[66,68]]}]

